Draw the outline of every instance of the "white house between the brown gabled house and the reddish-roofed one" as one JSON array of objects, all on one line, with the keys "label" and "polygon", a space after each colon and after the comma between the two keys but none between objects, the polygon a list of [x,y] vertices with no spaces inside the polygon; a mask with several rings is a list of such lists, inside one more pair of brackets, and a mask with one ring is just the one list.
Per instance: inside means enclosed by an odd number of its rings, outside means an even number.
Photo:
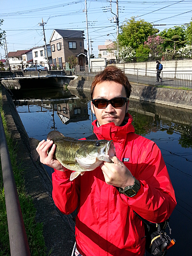
[{"label": "white house between the brown gabled house and the reddish-roofed one", "polygon": [[[52,64],[51,46],[47,44],[46,47],[48,53],[48,61],[50,64]],[[32,48],[33,63],[38,63],[42,66],[48,67],[46,47],[44,45]]]}]

